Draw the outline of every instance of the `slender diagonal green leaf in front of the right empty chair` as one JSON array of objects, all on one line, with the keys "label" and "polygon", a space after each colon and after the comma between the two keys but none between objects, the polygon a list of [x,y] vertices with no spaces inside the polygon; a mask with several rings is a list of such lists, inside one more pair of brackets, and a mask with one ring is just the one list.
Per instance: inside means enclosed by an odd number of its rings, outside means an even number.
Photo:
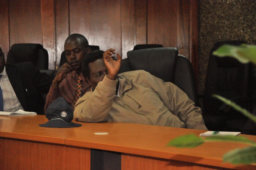
[{"label": "slender diagonal green leaf in front of the right empty chair", "polygon": [[237,110],[238,112],[241,112],[243,115],[247,116],[249,119],[253,120],[256,123],[256,116],[254,116],[253,114],[251,114],[249,111],[247,111],[246,109],[240,107],[239,105],[237,105],[235,102],[228,100],[224,97],[221,97],[219,95],[214,94],[213,97],[223,101],[224,103],[226,103],[227,105],[231,106],[232,108],[234,108],[235,110]]}]

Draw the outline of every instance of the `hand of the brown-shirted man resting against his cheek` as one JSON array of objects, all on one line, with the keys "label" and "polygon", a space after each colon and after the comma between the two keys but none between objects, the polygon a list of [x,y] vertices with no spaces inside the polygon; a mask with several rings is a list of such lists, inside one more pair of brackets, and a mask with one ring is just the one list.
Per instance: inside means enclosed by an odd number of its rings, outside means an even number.
[{"label": "hand of the brown-shirted man resting against his cheek", "polygon": [[72,70],[72,67],[68,63],[63,64],[56,73],[52,87],[58,87],[60,82],[62,82]]}]

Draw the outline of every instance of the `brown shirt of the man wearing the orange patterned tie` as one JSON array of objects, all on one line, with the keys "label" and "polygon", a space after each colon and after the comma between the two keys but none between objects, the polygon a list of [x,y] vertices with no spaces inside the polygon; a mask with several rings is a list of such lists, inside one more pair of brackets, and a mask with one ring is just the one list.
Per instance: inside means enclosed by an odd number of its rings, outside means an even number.
[{"label": "brown shirt of the man wearing the orange patterned tie", "polygon": [[[46,96],[46,101],[44,105],[44,113],[46,112],[49,105],[56,100],[59,97],[63,97],[69,105],[72,104],[72,101],[75,96],[76,88],[77,88],[77,77],[78,74],[76,74],[75,71],[72,71],[72,73],[68,74],[65,79],[60,82],[59,87],[50,87],[50,91]],[[80,74],[80,77],[82,78],[82,96],[91,90],[91,85],[88,84],[87,80],[85,79],[83,73]]]}]

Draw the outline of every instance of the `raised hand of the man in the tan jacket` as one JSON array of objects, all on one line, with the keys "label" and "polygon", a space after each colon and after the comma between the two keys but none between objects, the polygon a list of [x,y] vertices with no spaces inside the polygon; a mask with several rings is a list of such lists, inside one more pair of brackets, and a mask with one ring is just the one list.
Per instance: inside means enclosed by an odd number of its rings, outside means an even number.
[{"label": "raised hand of the man in the tan jacket", "polygon": [[119,53],[117,53],[117,61],[115,61],[111,56],[112,54],[116,54],[115,49],[108,49],[105,51],[105,53],[103,53],[103,59],[108,72],[107,78],[110,80],[116,80],[122,59]]}]

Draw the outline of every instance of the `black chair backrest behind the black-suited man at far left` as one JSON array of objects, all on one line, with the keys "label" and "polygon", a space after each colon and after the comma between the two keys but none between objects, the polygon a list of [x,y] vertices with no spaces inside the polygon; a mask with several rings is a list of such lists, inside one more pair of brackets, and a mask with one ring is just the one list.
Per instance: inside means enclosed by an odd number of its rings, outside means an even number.
[{"label": "black chair backrest behind the black-suited man at far left", "polygon": [[41,44],[13,44],[7,54],[7,64],[32,62],[39,70],[48,70],[48,52]]}]

